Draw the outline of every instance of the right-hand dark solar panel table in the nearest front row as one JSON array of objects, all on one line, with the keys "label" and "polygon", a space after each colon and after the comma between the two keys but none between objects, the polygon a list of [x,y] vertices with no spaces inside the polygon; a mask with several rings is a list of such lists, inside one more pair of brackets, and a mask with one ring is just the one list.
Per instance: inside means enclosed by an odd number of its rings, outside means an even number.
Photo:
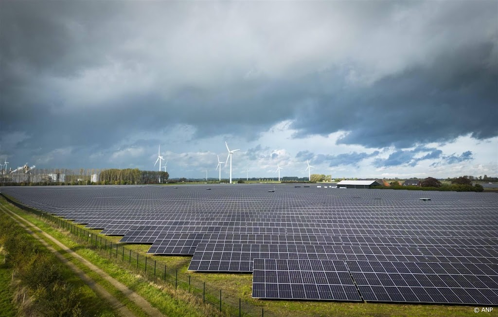
[{"label": "right-hand dark solar panel table in the nearest front row", "polygon": [[367,302],[498,303],[498,266],[494,264],[346,263]]}]

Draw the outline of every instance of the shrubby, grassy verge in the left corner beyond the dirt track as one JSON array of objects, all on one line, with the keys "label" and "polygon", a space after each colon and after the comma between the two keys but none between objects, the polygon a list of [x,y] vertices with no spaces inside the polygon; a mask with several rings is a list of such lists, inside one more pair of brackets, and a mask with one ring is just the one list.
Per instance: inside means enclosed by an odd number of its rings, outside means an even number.
[{"label": "shrubby, grassy verge in the left corner beyond the dirt track", "polygon": [[[5,264],[3,264],[4,255],[1,255],[1,316],[26,315],[35,313],[36,310],[43,308],[45,304],[53,306],[50,303],[45,303],[46,300],[54,298],[58,294],[56,288],[52,289],[49,287],[52,284],[66,290],[65,294],[61,294],[63,297],[65,295],[73,296],[74,298],[71,299],[71,303],[79,305],[85,316],[118,316],[109,307],[108,303],[103,301],[73,271],[67,266],[62,265],[44,245],[34,239],[24,229],[21,229],[3,212],[0,212],[0,221],[6,232],[3,233],[2,243],[8,244],[11,243],[9,241],[24,241],[29,246],[29,249],[24,249],[18,245],[14,246],[14,248],[18,247],[17,254],[7,253]],[[14,233],[15,236],[10,236],[10,234]],[[6,250],[8,249],[6,248]],[[43,271],[43,269],[39,269],[40,265],[43,268],[50,268],[50,272],[37,272],[37,270]],[[12,279],[13,270],[17,272],[14,275],[14,279]],[[42,283],[41,286],[45,288],[37,286],[36,289],[33,289],[31,285],[36,283],[34,281],[44,281],[46,284]],[[55,293],[52,293],[52,290]],[[40,294],[45,294],[44,297],[46,298],[39,298]]]}]

